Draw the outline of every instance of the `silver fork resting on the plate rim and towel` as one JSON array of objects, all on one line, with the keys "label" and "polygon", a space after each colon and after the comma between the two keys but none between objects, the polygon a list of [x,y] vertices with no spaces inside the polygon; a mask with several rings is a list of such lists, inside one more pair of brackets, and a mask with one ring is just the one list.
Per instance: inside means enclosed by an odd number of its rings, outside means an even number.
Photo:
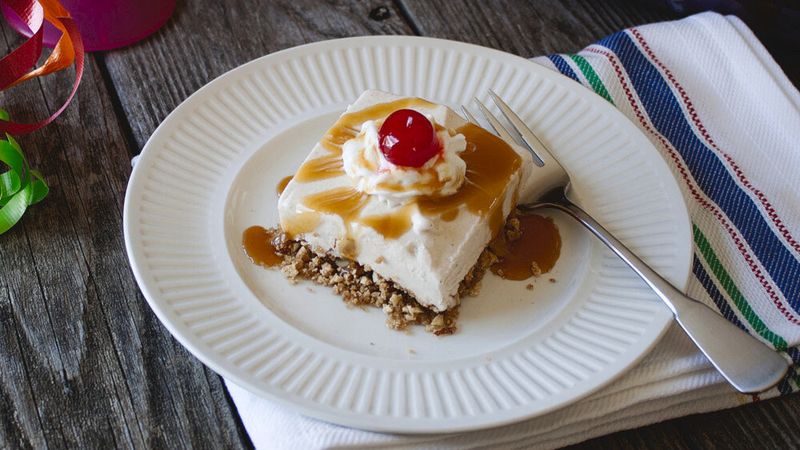
[{"label": "silver fork resting on the plate rim and towel", "polygon": [[[789,361],[745,333],[703,303],[683,294],[678,288],[639,259],[608,230],[569,199],[570,178],[552,152],[540,141],[514,111],[493,91],[492,100],[511,124],[507,129],[477,98],[482,115],[495,132],[509,142],[516,142],[533,155],[541,167],[534,176],[541,180],[541,191],[533,203],[519,205],[523,212],[540,208],[555,208],[577,219],[601,242],[619,256],[656,295],[672,310],[675,320],[711,364],[739,392],[752,394],[775,386],[786,374]],[[480,126],[466,106],[462,111],[467,120]]]}]

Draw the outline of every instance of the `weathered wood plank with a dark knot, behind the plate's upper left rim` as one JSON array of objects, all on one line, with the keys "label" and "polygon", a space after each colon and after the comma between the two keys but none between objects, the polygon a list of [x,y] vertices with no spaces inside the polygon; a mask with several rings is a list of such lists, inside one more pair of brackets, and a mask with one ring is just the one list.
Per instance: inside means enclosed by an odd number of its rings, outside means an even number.
[{"label": "weathered wood plank with a dark knot, behind the plate's upper left rim", "polygon": [[111,52],[106,64],[140,148],[178,104],[259,56],[324,39],[410,34],[387,2],[185,2],[156,35]]}]

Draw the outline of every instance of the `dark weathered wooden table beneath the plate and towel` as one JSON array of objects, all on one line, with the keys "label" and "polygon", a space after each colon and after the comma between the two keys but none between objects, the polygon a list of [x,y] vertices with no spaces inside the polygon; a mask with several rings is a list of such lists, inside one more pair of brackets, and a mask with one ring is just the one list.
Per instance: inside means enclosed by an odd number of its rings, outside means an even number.
[{"label": "dark weathered wooden table beneath the plate and towel", "polygon": [[[657,2],[435,4],[181,1],[149,39],[87,58],[73,104],[20,139],[51,192],[0,236],[0,447],[251,446],[222,379],[147,306],[122,237],[131,157],[173,108],[218,75],[276,50],[346,36],[436,36],[528,57],[676,17]],[[8,26],[2,31],[6,54],[21,39]],[[797,83],[791,51],[770,49]],[[68,75],[26,83],[1,94],[2,107],[23,121],[45,117],[70,83]],[[792,395],[579,447],[798,445],[800,396]]]}]

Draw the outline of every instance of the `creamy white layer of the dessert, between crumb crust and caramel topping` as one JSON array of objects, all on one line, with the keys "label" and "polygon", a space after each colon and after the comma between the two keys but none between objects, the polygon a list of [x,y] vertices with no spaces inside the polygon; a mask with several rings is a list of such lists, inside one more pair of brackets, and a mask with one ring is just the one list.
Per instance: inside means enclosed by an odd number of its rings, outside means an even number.
[{"label": "creamy white layer of the dessert, between crumb crust and caramel topping", "polygon": [[[350,105],[345,114],[357,117],[359,112],[403,99],[369,90]],[[410,99],[403,107],[422,113],[445,130],[459,130],[467,125],[464,119],[442,105]],[[347,140],[361,131],[361,125],[363,123],[354,125],[357,128]],[[437,211],[436,204],[423,201],[419,205],[398,204],[380,195],[359,191],[358,178],[348,175],[341,161],[341,147],[346,140],[336,139],[330,133],[324,136],[286,186],[278,202],[281,227],[292,238],[308,242],[315,251],[331,252],[368,266],[394,281],[423,306],[436,311],[456,306],[459,284],[499,229],[498,218],[502,224],[515,206],[514,202],[526,198],[533,167],[531,156],[509,144],[521,164],[514,166],[507,179],[501,180],[506,186],[501,194],[489,199],[493,213],[476,213],[474,208],[471,210],[464,204],[452,211],[456,214],[437,215],[431,212]],[[338,161],[332,143],[339,146]],[[304,176],[309,167],[321,167],[316,173],[324,176]],[[469,174],[469,161],[466,171]],[[521,180],[526,183],[523,185]],[[465,184],[468,183],[469,179]],[[354,192],[358,194],[352,194]],[[336,199],[335,207],[319,206],[320,198],[336,195],[342,198]],[[457,199],[459,193],[454,195],[453,199]],[[398,228],[397,223],[403,226]]]}]

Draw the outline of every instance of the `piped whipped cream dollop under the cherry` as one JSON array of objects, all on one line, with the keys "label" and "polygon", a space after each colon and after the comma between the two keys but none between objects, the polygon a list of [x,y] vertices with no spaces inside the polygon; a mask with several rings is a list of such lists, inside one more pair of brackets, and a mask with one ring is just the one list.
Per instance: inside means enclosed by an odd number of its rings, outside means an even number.
[{"label": "piped whipped cream dollop under the cherry", "polygon": [[342,146],[344,171],[356,189],[377,195],[389,203],[405,203],[414,197],[444,197],[464,184],[467,164],[459,156],[467,148],[463,134],[436,133],[441,150],[422,167],[398,166],[386,159],[378,143],[378,123],[368,120],[359,134]]}]

